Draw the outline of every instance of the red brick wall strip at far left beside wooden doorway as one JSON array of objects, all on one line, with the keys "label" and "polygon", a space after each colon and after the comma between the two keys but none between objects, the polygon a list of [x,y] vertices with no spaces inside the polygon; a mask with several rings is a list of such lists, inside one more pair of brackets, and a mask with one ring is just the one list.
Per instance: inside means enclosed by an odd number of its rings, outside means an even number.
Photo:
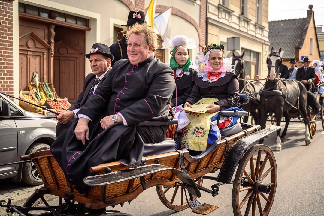
[{"label": "red brick wall strip at far left beside wooden doorway", "polygon": [[0,92],[14,94],[12,1],[0,0]]}]

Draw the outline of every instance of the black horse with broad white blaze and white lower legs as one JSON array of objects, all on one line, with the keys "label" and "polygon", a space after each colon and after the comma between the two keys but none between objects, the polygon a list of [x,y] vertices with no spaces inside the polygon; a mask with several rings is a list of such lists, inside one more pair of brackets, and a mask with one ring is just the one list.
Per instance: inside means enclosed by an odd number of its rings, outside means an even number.
[{"label": "black horse with broad white blaze and white lower legs", "polygon": [[[276,125],[280,126],[282,116],[285,117],[286,125],[283,133],[280,135],[280,131],[277,131],[277,146],[276,151],[281,151],[281,138],[287,134],[287,128],[290,122],[291,116],[288,111],[291,108],[297,108],[300,112],[305,123],[305,142],[306,145],[311,143],[308,128],[308,115],[307,105],[313,110],[313,113],[318,113],[319,105],[316,97],[311,92],[307,91],[305,86],[298,81],[287,80],[283,82],[279,79],[279,67],[282,64],[282,58],[280,56],[281,48],[279,52],[274,52],[271,49],[270,55],[267,58],[268,64],[268,76],[264,85],[264,90],[260,92],[260,122],[261,129],[265,128],[267,114],[272,112],[276,118]],[[263,138],[260,139],[260,143],[263,142]]]}]

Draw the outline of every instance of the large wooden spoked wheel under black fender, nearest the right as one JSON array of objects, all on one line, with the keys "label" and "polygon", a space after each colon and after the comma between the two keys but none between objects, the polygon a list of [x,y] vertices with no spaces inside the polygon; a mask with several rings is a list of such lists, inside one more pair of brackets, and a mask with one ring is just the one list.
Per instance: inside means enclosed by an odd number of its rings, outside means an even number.
[{"label": "large wooden spoked wheel under black fender, nearest the right", "polygon": [[[256,161],[253,156],[257,157]],[[250,147],[241,158],[234,179],[234,215],[268,215],[276,187],[277,164],[271,149],[262,144]]]}]

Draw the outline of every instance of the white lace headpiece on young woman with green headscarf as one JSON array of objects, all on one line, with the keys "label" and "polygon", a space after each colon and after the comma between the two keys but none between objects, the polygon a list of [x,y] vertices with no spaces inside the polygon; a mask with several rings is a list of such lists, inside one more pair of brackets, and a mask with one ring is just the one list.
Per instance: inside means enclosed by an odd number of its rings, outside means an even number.
[{"label": "white lace headpiece on young woman with green headscarf", "polygon": [[162,49],[172,51],[177,46],[185,46],[187,49],[195,49],[197,47],[197,40],[190,39],[185,35],[177,35],[172,40],[165,38],[162,42]]}]

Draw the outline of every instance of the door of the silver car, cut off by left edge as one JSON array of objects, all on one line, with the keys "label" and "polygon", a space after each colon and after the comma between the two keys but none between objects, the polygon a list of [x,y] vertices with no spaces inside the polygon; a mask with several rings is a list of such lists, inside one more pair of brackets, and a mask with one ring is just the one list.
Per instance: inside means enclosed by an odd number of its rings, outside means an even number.
[{"label": "door of the silver car, cut off by left edge", "polygon": [[[0,97],[0,110],[2,110],[2,101]],[[17,161],[17,142],[18,134],[14,119],[2,118],[0,112],[0,165],[13,163]],[[15,172],[16,165],[0,166],[0,178]]]}]

